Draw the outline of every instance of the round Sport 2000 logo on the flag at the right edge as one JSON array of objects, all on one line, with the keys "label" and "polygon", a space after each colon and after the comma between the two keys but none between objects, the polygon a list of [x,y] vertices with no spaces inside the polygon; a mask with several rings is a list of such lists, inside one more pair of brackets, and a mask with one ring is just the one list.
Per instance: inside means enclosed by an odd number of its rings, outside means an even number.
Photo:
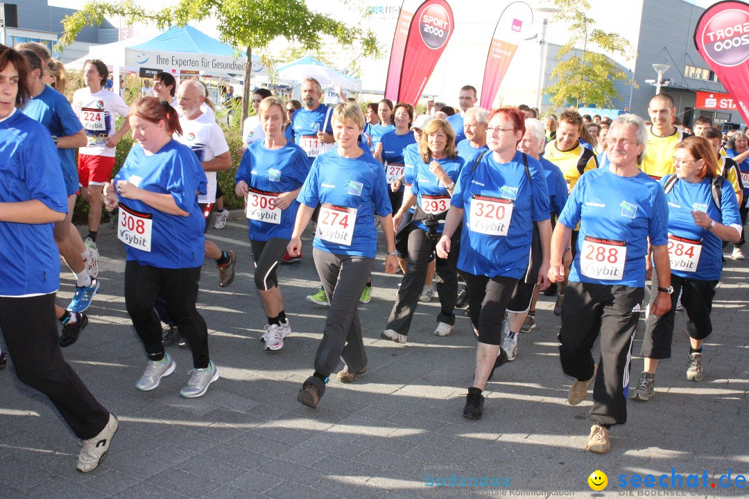
[{"label": "round Sport 2000 logo on the flag at the right edge", "polygon": [[743,64],[749,59],[749,12],[718,12],[705,23],[700,36],[710,61],[724,67]]}]

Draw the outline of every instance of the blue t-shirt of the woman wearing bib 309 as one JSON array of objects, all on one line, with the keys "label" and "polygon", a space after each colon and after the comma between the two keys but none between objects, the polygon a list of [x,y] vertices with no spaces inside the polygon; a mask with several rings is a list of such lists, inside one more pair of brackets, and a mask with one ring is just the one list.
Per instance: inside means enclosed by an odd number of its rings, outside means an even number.
[{"label": "blue t-shirt of the woman wearing bib 309", "polygon": [[[244,180],[247,183],[250,189],[247,203],[260,214],[264,212],[264,203],[268,199],[264,196],[277,196],[299,189],[307,178],[310,166],[312,159],[297,144],[289,142],[280,149],[268,149],[263,141],[259,141],[244,151],[235,182]],[[281,210],[279,223],[248,218],[249,239],[291,239],[297,209],[299,201],[294,199],[286,209]]]}]

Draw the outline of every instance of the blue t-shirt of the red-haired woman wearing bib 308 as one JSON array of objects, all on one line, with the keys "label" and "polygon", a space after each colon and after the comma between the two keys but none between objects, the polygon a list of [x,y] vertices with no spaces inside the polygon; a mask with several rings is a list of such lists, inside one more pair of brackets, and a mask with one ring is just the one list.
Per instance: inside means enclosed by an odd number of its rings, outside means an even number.
[{"label": "blue t-shirt of the red-haired woman wearing bib 308", "polygon": [[205,256],[205,218],[198,206],[198,192],[205,194],[207,180],[195,153],[174,139],[150,156],[140,144],[133,144],[115,176],[115,186],[118,180],[127,180],[150,192],[170,194],[178,208],[189,213],[187,217],[169,215],[140,200],[124,199],[118,194],[120,209],[124,206],[136,214],[150,216],[153,222],[151,251],[126,244],[127,260],[159,269],[201,266]]}]

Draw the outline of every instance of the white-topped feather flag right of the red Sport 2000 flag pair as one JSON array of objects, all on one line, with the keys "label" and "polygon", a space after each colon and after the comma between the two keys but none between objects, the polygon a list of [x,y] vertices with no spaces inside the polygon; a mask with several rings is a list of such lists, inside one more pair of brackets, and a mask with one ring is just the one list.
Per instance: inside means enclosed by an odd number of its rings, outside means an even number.
[{"label": "white-topped feather flag right of the red Sport 2000 flag pair", "polygon": [[484,82],[481,86],[481,107],[491,109],[499,94],[507,68],[515,56],[521,37],[533,22],[533,10],[524,1],[514,1],[505,7],[494,28],[489,53],[486,56]]}]

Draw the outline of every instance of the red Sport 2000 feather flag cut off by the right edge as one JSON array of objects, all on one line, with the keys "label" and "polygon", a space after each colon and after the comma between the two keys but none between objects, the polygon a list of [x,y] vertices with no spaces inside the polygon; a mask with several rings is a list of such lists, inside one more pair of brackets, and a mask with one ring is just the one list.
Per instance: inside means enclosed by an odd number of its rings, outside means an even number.
[{"label": "red Sport 2000 feather flag cut off by the right edge", "polygon": [[749,123],[749,4],[728,0],[709,7],[697,20],[694,45]]}]

